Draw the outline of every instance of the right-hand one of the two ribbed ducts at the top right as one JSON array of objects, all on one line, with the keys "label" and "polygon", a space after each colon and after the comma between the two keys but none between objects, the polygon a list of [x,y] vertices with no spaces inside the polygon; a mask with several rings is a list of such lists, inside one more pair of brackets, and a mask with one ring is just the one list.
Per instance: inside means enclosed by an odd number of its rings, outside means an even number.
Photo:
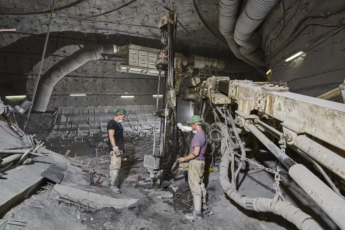
[{"label": "right-hand one of the two ribbed ducts at the top right", "polygon": [[240,53],[259,66],[266,66],[265,57],[258,49],[260,36],[255,32],[279,0],[249,0],[236,22],[234,38]]}]

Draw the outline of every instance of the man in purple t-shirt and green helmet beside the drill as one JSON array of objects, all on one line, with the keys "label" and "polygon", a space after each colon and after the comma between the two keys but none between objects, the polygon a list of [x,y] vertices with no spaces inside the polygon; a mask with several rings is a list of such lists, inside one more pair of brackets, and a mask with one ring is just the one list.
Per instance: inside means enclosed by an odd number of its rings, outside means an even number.
[{"label": "man in purple t-shirt and green helmet beside the drill", "polygon": [[201,200],[203,202],[203,209],[206,206],[206,189],[204,184],[205,172],[205,151],[207,147],[207,134],[201,127],[203,120],[199,116],[192,116],[188,125],[191,125],[194,137],[190,147],[190,153],[187,156],[177,159],[178,162],[189,161],[188,183],[190,191],[194,199],[193,213],[187,213],[187,219],[203,219],[203,212],[201,210]]}]

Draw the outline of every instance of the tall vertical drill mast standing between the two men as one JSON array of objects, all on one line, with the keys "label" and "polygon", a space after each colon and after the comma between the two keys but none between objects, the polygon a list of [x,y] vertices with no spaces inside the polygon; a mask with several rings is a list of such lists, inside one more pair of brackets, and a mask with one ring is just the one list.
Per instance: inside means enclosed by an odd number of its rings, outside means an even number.
[{"label": "tall vertical drill mast standing between the two men", "polygon": [[[158,28],[161,34],[162,49],[157,54],[156,67],[159,71],[158,93],[156,102],[156,122],[154,128],[154,146],[152,155],[145,155],[144,167],[148,168],[150,178],[160,172],[158,183],[162,178],[169,176],[171,167],[179,153],[179,128],[177,126],[174,41],[176,39],[177,12],[172,10],[168,15],[161,17]],[[165,75],[162,108],[158,108],[160,77]],[[157,119],[160,117],[159,150],[156,151]]]}]

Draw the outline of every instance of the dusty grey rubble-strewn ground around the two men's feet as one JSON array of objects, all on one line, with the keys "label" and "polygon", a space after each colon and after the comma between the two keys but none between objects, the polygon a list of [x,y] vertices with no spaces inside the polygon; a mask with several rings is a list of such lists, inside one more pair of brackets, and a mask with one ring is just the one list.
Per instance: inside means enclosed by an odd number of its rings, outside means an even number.
[{"label": "dusty grey rubble-strewn ground around the two men's feet", "polygon": [[[120,183],[122,193],[114,194],[109,190],[108,181],[103,180],[102,188],[88,186],[87,174],[80,172],[79,168],[67,166],[65,178],[62,185],[70,186],[85,191],[95,192],[114,198],[137,198],[138,202],[124,209],[103,208],[96,213],[88,213],[77,207],[66,204],[57,204],[55,200],[46,199],[39,194],[32,195],[29,199],[18,204],[8,211],[2,220],[16,219],[27,222],[25,227],[6,224],[4,229],[297,229],[281,217],[271,213],[256,213],[247,211],[230,201],[221,191],[219,183],[219,173],[213,172],[206,176],[207,190],[210,194],[209,205],[214,214],[205,215],[199,221],[189,221],[184,218],[181,210],[176,210],[174,199],[159,199],[152,190],[158,190],[149,180],[147,169],[144,168],[143,159],[145,154],[149,154],[151,146],[149,137],[147,140],[140,140],[131,146],[127,145],[127,161],[122,163],[120,171]],[[87,156],[77,157],[80,163]],[[103,155],[104,164],[93,164],[96,159],[92,159],[92,165],[97,171],[108,173],[107,156]],[[73,158],[72,158],[73,159]],[[84,160],[86,161],[86,160]],[[87,164],[86,161],[85,164]],[[86,165],[84,165],[86,166]],[[138,175],[140,181],[138,182]],[[238,190],[245,195],[253,197],[273,198],[272,175],[265,172],[256,173],[250,176],[239,174],[240,186]],[[243,180],[242,180],[243,179]],[[102,180],[101,180],[102,181]],[[184,180],[164,183],[167,186],[173,183],[179,187],[179,191],[188,187]],[[301,199],[298,195],[285,191],[283,194],[291,202]],[[40,203],[37,203],[39,201]],[[312,205],[308,201],[303,201],[303,206]],[[34,208],[33,206],[39,206]],[[308,214],[313,214],[312,212]],[[313,214],[318,218],[317,214]],[[320,219],[320,218],[318,218]],[[321,219],[320,219],[321,220]],[[1,220],[0,220],[1,221]],[[321,220],[323,223],[323,221]],[[0,222],[1,224],[1,222]],[[336,229],[336,228],[334,228]]]}]

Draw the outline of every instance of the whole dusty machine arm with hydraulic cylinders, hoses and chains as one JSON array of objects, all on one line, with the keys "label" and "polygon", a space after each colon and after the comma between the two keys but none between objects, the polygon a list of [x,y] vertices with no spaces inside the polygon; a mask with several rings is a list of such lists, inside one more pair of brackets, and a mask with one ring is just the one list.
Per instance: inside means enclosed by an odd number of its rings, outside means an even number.
[{"label": "whole dusty machine arm with hydraulic cylinders, hoses and chains", "polygon": [[[279,182],[292,179],[285,184],[345,229],[345,104],[288,90],[279,83],[210,77],[189,91],[198,95],[213,152],[220,149],[220,184],[228,197],[247,210],[281,215],[298,229],[323,229],[280,193]],[[265,154],[277,163],[253,157]],[[236,177],[248,168],[274,174],[273,199],[237,191]]]}]

